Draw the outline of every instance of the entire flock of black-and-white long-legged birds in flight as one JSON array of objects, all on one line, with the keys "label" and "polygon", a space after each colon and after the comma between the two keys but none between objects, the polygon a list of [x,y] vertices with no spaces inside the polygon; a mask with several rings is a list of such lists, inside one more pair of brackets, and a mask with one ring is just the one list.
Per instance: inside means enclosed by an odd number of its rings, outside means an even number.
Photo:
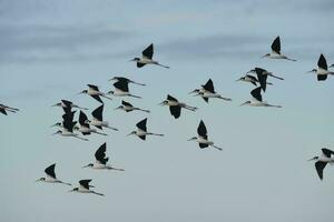
[{"label": "entire flock of black-and-white long-legged birds in flight", "polygon": [[[143,68],[146,64],[155,64],[159,65],[166,69],[169,69],[169,67],[160,64],[158,61],[155,61],[153,59],[154,56],[154,46],[153,43],[147,47],[143,51],[143,56],[140,58],[135,58],[130,61],[135,61],[137,63],[137,68]],[[296,61],[295,59],[291,59],[284,54],[281,53],[281,39],[277,37],[273,43],[272,43],[272,52],[266,53],[263,56],[263,58],[269,58],[269,59],[282,59],[282,60],[289,60],[289,61]],[[330,67],[327,67],[326,59],[323,54],[320,56],[320,59],[317,61],[317,69],[313,69],[310,72],[314,72],[317,77],[318,81],[325,81],[327,79],[327,75],[334,75],[334,71],[328,70],[328,68],[334,68],[334,63]],[[240,77],[237,81],[243,82],[249,82],[254,84],[256,88],[250,91],[250,94],[253,97],[253,100],[244,102],[242,105],[250,105],[250,107],[272,107],[272,108],[282,108],[282,105],[277,104],[269,104],[265,102],[262,98],[262,92],[266,91],[267,84],[273,84],[271,82],[267,82],[267,78],[275,78],[278,80],[284,80],[281,77],[274,75],[271,71],[267,71],[262,68],[254,68],[249,70],[244,77]],[[131,98],[138,98],[141,97],[135,95],[129,91],[129,84],[138,84],[138,85],[146,85],[144,83],[139,83],[136,81],[132,81],[130,79],[124,78],[124,77],[115,77],[110,79],[109,81],[114,82],[115,90],[109,91],[107,93],[101,92],[97,85],[88,84],[87,90],[82,90],[80,94],[87,94],[97,100],[101,105],[95,109],[91,112],[91,119],[89,120],[87,114],[84,112],[88,110],[87,108],[80,107],[78,104],[72,103],[68,100],[61,100],[60,102],[56,103],[52,107],[59,107],[62,108],[63,114],[62,114],[62,122],[57,122],[51,127],[58,127],[59,130],[55,132],[53,134],[59,134],[62,137],[71,137],[79,140],[88,141],[86,138],[89,134],[100,134],[100,135],[107,135],[102,130],[104,128],[111,129],[114,131],[118,131],[117,128],[110,127],[109,122],[104,120],[104,101],[102,99],[112,100],[111,97],[131,97]],[[189,94],[198,95],[203,98],[205,102],[208,102],[209,99],[222,99],[224,101],[232,101],[229,98],[225,98],[222,94],[217,93],[214,88],[214,82],[212,79],[209,79],[205,84],[202,84],[200,88],[195,89],[194,91],[189,92]],[[189,110],[189,111],[196,111],[196,107],[188,105],[184,102],[179,102],[176,98],[171,97],[170,94],[167,95],[166,100],[164,100],[160,105],[167,105],[169,107],[170,114],[178,119],[180,117],[181,109]],[[75,113],[76,111],[72,111],[72,109],[79,109],[79,119],[78,122],[75,121]],[[131,111],[141,111],[149,113],[149,110],[141,109],[138,107],[134,107],[131,103],[127,101],[121,101],[121,104],[116,108],[117,110],[124,110],[126,112]],[[7,115],[7,112],[18,112],[19,109],[11,108],[4,104],[0,104],[0,112]],[[92,128],[94,127],[94,128]],[[157,135],[163,137],[164,134],[160,133],[154,133],[147,130],[147,118],[139,121],[137,124],[137,130],[130,132],[128,135],[137,135],[141,140],[146,140],[147,135]],[[79,133],[82,134],[82,137],[79,135]],[[200,149],[205,149],[208,147],[215,148],[217,150],[223,150],[222,148],[215,145],[213,141],[208,139],[207,135],[207,129],[203,120],[200,120],[198,128],[197,128],[197,137],[190,138],[188,141],[196,141]],[[89,163],[85,165],[84,168],[91,168],[97,170],[117,170],[117,171],[124,171],[124,169],[115,168],[110,164],[108,164],[108,158],[106,158],[106,151],[107,151],[107,144],[104,143],[99,147],[99,149],[95,153],[96,161],[94,163]],[[321,157],[314,157],[310,161],[316,161],[315,162],[315,169],[317,171],[317,174],[320,179],[323,179],[323,170],[326,167],[327,163],[334,163],[334,151],[323,148],[322,149],[322,155]],[[66,185],[71,185],[70,183],[62,182],[61,180],[58,180],[55,173],[56,163],[48,167],[45,170],[45,173],[47,174],[46,178],[40,178],[37,181],[48,182],[48,183],[62,183]],[[104,195],[102,193],[98,193],[92,191],[90,188],[94,188],[89,183],[91,182],[90,179],[87,180],[80,180],[79,186],[70,190],[70,192],[79,192],[79,193],[94,193],[97,195]]]}]

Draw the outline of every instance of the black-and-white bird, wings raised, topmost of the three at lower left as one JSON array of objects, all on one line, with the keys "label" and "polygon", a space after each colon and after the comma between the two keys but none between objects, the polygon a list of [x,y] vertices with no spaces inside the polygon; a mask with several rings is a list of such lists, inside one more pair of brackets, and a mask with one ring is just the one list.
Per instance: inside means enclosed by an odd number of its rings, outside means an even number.
[{"label": "black-and-white bird, wings raised, topmost of the three at lower left", "polygon": [[106,158],[106,150],[107,150],[107,143],[105,142],[99,147],[99,149],[95,153],[95,163],[89,163],[85,165],[84,168],[91,168],[97,170],[117,170],[117,171],[125,171],[124,169],[114,168],[109,164],[107,164],[109,158]]}]

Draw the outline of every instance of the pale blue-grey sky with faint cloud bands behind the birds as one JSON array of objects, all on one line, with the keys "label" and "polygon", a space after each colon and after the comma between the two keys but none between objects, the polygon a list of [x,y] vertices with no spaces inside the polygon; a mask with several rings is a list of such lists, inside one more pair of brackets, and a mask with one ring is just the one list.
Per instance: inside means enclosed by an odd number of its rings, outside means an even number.
[{"label": "pale blue-grey sky with faint cloud bands behind the birds", "polygon": [[[332,220],[334,169],[320,181],[306,160],[334,149],[334,80],[317,82],[306,71],[321,53],[334,62],[333,12],[331,0],[0,0],[0,100],[21,110],[0,117],[0,221]],[[297,62],[261,59],[277,36]],[[128,62],[151,42],[171,69]],[[239,107],[253,85],[235,80],[254,67],[285,78],[271,79],[263,95],[283,109]],[[99,104],[77,93],[88,83],[111,90],[114,75],[147,83],[130,88],[143,100],[127,101],[151,113],[115,111],[115,99],[105,118],[119,132],[89,142],[51,135],[61,119],[51,104],[68,99],[90,117]],[[232,102],[188,95],[209,78]],[[168,93],[199,110],[174,120],[157,105]],[[126,137],[144,118],[166,135]],[[187,142],[202,119],[223,152]],[[81,169],[104,142],[125,172]],[[55,162],[59,179],[92,179],[106,196],[36,183]]]}]

